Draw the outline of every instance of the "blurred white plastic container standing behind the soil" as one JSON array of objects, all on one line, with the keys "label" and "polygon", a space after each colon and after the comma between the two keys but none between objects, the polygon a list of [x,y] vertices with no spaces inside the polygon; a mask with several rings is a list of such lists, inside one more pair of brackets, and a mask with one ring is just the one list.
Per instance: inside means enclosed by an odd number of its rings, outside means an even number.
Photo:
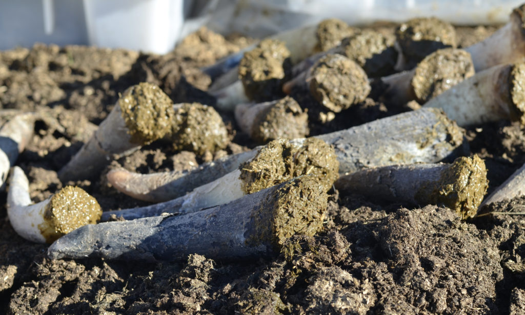
[{"label": "blurred white plastic container standing behind the soil", "polygon": [[165,54],[184,22],[183,0],[83,0],[89,44]]}]

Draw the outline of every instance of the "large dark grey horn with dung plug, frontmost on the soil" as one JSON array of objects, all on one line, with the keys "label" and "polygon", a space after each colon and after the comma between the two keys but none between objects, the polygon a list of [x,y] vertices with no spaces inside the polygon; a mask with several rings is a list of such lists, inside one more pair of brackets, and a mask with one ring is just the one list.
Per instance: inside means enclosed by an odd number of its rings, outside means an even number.
[{"label": "large dark grey horn with dung plug, frontmost on the soil", "polygon": [[56,240],[47,256],[184,261],[199,254],[211,259],[258,259],[279,253],[292,235],[316,234],[327,201],[325,187],[314,177],[302,176],[186,215],[86,225]]}]

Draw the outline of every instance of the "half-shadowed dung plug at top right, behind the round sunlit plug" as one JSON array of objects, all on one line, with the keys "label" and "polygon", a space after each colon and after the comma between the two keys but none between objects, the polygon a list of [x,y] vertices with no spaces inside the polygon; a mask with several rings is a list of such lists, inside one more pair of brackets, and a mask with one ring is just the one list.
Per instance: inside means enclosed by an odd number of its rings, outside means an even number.
[{"label": "half-shadowed dung plug at top right, behind the round sunlit plug", "polygon": [[402,23],[396,29],[396,38],[412,65],[438,49],[457,46],[454,26],[435,17],[413,18]]}]

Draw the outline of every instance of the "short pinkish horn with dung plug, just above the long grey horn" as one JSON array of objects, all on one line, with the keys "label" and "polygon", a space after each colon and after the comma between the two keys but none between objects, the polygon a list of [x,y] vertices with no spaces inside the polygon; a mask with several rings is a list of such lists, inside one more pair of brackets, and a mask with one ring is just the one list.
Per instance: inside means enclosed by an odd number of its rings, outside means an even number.
[{"label": "short pinkish horn with dung plug, just above the long grey horn", "polygon": [[239,104],[235,108],[235,121],[258,144],[303,138],[310,132],[308,114],[289,96],[258,104]]}]

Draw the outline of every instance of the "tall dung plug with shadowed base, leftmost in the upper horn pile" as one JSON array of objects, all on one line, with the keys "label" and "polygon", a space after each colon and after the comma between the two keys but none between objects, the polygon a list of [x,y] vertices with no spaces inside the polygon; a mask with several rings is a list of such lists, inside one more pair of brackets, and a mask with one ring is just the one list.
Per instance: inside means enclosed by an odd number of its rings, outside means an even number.
[{"label": "tall dung plug with shadowed base, leftmost in the upper horn pile", "polygon": [[281,86],[291,71],[290,51],[286,43],[262,40],[244,54],[239,63],[239,77],[246,96],[254,101],[267,101],[281,95]]}]

